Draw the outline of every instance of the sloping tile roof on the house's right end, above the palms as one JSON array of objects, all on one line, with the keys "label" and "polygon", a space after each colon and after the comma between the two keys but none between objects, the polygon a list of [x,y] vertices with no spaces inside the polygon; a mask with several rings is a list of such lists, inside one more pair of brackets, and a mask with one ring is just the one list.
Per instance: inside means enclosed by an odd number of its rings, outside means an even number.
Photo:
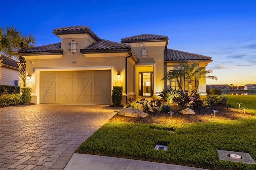
[{"label": "sloping tile roof on the house's right end, above the palms", "polygon": [[175,49],[166,49],[164,51],[164,61],[174,60],[211,60],[212,57],[205,55],[199,55],[194,53],[188,53],[184,51],[178,51]]}]

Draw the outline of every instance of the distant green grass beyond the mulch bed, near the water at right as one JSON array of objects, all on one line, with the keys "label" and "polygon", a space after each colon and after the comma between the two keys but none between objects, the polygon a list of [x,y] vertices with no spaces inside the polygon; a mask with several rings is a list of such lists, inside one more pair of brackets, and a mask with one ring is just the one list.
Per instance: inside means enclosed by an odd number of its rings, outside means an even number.
[{"label": "distant green grass beyond the mulch bed, near the water at right", "polygon": [[240,108],[247,107],[247,112],[254,113],[256,115],[256,95],[224,95],[228,97],[228,105],[239,108],[237,103],[242,103]]}]

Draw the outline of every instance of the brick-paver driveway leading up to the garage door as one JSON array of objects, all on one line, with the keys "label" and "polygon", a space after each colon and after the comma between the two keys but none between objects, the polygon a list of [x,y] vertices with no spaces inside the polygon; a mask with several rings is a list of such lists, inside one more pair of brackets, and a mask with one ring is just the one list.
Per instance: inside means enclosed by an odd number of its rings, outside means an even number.
[{"label": "brick-paver driveway leading up to the garage door", "polygon": [[116,109],[42,104],[0,108],[0,169],[64,169],[78,146]]}]

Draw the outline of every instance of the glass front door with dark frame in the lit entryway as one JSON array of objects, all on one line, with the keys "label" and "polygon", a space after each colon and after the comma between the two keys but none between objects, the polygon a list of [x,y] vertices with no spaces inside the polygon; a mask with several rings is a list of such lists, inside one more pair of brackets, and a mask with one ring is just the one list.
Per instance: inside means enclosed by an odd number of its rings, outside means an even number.
[{"label": "glass front door with dark frame in the lit entryway", "polygon": [[139,72],[139,96],[153,96],[153,72]]}]

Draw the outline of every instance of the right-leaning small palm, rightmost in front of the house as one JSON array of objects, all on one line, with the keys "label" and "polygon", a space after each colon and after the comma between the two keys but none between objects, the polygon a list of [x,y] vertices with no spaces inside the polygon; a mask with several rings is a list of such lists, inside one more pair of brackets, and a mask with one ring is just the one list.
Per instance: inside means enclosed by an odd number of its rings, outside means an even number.
[{"label": "right-leaning small palm, rightmost in front of the house", "polygon": [[207,75],[209,73],[212,73],[212,70],[205,70],[205,67],[198,67],[196,69],[195,72],[195,78],[196,78],[196,82],[195,82],[195,89],[194,92],[192,93],[192,96],[194,96],[196,94],[196,91],[199,87],[199,80],[202,78],[205,79],[213,79],[213,80],[217,80],[218,78],[216,76],[212,76],[212,75]]}]

